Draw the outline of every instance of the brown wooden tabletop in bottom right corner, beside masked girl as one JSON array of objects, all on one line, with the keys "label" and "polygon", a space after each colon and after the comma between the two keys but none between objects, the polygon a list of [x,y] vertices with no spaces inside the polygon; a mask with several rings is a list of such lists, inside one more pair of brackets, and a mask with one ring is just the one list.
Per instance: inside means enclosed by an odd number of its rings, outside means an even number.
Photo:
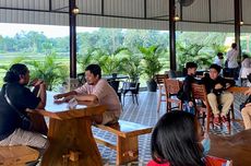
[{"label": "brown wooden tabletop in bottom right corner, beside masked girl", "polygon": [[231,159],[234,166],[251,165],[251,130],[231,137],[210,135],[210,155]]}]

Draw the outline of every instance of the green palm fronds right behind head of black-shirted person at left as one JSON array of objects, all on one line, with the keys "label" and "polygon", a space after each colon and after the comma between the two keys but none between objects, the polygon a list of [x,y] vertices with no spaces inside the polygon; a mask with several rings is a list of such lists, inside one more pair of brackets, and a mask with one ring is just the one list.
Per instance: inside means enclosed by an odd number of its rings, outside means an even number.
[{"label": "green palm fronds right behind head of black-shirted person at left", "polygon": [[31,79],[41,79],[46,82],[47,90],[53,90],[56,85],[65,81],[69,75],[69,68],[57,61],[56,54],[51,54],[45,56],[43,61],[26,62],[29,66]]}]

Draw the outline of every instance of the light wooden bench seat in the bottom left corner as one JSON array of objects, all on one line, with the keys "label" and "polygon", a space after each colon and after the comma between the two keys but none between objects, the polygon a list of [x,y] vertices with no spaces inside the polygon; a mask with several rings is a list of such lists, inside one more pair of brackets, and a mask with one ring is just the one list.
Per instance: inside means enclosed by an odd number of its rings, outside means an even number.
[{"label": "light wooden bench seat in the bottom left corner", "polygon": [[36,161],[38,151],[24,145],[1,146],[0,166],[25,166],[25,163]]}]

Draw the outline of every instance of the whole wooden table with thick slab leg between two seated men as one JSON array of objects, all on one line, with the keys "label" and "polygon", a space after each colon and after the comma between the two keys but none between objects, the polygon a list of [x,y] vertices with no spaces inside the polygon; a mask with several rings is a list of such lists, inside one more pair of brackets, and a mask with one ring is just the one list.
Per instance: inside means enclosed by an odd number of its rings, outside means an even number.
[{"label": "whole wooden table with thick slab leg between two seated men", "polygon": [[92,116],[105,111],[105,106],[92,103],[69,109],[68,104],[53,103],[47,93],[45,110],[36,110],[49,117],[48,139],[50,145],[44,154],[41,166],[101,166],[101,157],[92,133]]}]

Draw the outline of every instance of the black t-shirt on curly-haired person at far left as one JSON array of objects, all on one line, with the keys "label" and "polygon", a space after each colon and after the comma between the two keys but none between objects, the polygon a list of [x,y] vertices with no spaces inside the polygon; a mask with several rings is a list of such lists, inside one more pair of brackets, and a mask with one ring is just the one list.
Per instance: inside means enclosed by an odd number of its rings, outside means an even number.
[{"label": "black t-shirt on curly-haired person at far left", "polygon": [[[9,137],[16,128],[20,128],[21,118],[19,114],[7,103],[4,98],[7,84],[0,92],[0,140]],[[19,83],[8,83],[8,97],[22,114],[25,109],[34,109],[40,102],[27,87]]]}]

